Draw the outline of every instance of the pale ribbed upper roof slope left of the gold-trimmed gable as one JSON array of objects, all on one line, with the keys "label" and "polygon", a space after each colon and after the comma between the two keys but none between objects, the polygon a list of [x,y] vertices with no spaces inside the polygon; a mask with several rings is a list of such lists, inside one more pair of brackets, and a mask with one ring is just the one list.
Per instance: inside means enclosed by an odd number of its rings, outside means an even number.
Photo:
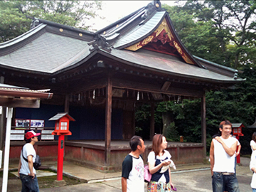
[{"label": "pale ribbed upper roof slope left of the gold-trimmed gable", "polygon": [[123,46],[129,46],[130,44],[137,43],[141,41],[143,38],[146,38],[149,34],[153,33],[154,30],[157,28],[159,25],[161,19],[164,17],[165,11],[159,11],[150,18],[149,21],[142,25],[138,25],[134,27],[129,33],[125,34],[117,40],[113,47],[114,48],[121,48]]}]

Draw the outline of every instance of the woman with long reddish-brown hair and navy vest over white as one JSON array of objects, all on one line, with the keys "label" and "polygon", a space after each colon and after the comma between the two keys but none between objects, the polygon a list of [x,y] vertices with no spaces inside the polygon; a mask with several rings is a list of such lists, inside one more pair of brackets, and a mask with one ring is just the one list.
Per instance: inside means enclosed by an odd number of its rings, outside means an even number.
[{"label": "woman with long reddish-brown hair and navy vest over white", "polygon": [[162,134],[153,137],[152,150],[148,156],[149,171],[152,174],[148,192],[167,192],[174,188],[171,183],[171,154],[166,151],[167,142]]}]

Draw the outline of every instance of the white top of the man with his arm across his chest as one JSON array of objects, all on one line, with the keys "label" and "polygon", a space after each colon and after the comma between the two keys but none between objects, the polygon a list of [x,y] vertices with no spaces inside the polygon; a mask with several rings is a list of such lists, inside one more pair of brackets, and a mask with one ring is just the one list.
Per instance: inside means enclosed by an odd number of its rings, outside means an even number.
[{"label": "white top of the man with his arm across his chest", "polygon": [[[236,139],[233,137],[229,137],[228,139],[223,139],[222,137],[220,138],[228,147],[231,147],[236,142]],[[235,153],[233,156],[229,156],[225,152],[225,149],[223,148],[222,144],[220,144],[215,139],[213,139],[213,144],[214,144],[213,171],[235,173]]]}]

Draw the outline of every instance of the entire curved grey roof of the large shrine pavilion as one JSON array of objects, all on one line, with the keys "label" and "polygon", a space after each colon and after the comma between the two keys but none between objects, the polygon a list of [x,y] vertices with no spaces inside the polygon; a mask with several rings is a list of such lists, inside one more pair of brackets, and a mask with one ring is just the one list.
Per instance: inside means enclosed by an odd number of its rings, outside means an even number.
[{"label": "entire curved grey roof of the large shrine pavilion", "polygon": [[[106,33],[104,30],[98,33],[89,33],[36,18],[39,25],[31,31],[9,42],[0,43],[0,67],[50,75],[68,71],[70,68],[82,65],[93,55],[104,53],[104,56],[112,59],[124,60],[127,65],[157,70],[169,75],[216,82],[240,80],[233,78],[231,70],[218,65],[214,65],[212,70],[203,68],[201,64],[189,65],[184,60],[178,60],[172,55],[143,49],[135,52],[124,50],[123,48],[142,41],[159,26],[163,18],[167,18],[166,21],[169,22],[169,26],[177,38],[179,48],[182,48],[183,52],[191,57],[191,60],[196,60],[183,47],[167,12],[163,11],[161,6],[156,9],[156,5],[154,5],[156,3],[159,1],[153,1],[151,5],[120,19],[116,22],[118,23],[116,27],[114,27],[114,23],[104,28]],[[227,75],[218,73],[221,70],[228,70],[229,73]]]}]

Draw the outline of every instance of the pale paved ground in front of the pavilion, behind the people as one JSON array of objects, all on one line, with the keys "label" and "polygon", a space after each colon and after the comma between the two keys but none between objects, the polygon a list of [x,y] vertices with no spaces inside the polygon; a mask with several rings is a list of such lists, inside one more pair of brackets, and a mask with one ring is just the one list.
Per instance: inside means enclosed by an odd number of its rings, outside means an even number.
[{"label": "pale paved ground in front of the pavilion, behind the people", "polygon": [[[249,169],[249,158],[241,158],[242,166],[237,166],[237,177],[241,192],[250,192],[252,172]],[[15,165],[16,166],[16,165]],[[48,162],[51,169],[55,169],[55,162]],[[171,178],[178,192],[210,192],[211,176],[209,164],[177,165],[177,170],[172,171]],[[14,168],[14,167],[13,167]],[[121,172],[105,174],[100,171],[88,169],[70,162],[64,162],[65,175],[78,178],[87,183],[75,186],[63,186],[56,188],[41,188],[41,192],[61,191],[86,191],[86,192],[121,192]],[[146,183],[145,183],[146,191]]]}]

